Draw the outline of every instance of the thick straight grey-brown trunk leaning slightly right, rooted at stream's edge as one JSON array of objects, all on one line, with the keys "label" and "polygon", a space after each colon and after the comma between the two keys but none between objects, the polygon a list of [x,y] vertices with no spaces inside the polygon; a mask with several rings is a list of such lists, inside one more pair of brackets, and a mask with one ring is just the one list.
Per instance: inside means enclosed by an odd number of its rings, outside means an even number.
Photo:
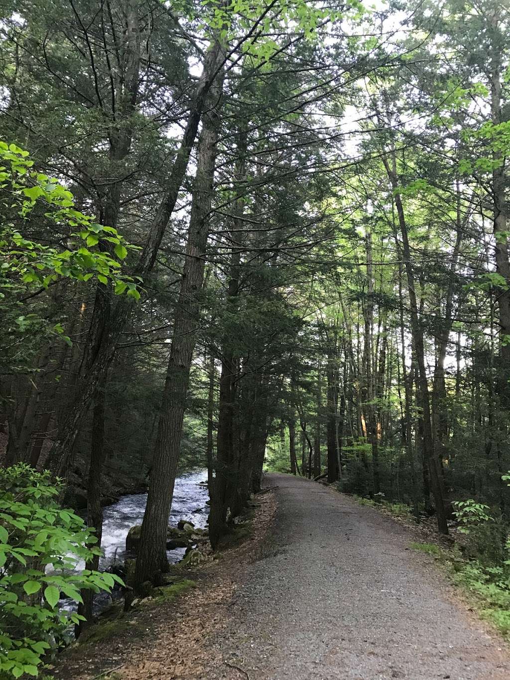
[{"label": "thick straight grey-brown trunk leaning slightly right, rooted at stream's edge", "polygon": [[180,454],[194,341],[199,324],[200,302],[197,293],[203,286],[205,265],[203,254],[207,248],[209,233],[222,89],[221,74],[211,87],[213,106],[205,116],[199,143],[197,174],[192,188],[188,245],[173,322],[170,358],[160,406],[146,511],[141,524],[135,569],[136,588],[145,581],[157,581],[159,573],[168,569],[166,550],[168,520]]}]

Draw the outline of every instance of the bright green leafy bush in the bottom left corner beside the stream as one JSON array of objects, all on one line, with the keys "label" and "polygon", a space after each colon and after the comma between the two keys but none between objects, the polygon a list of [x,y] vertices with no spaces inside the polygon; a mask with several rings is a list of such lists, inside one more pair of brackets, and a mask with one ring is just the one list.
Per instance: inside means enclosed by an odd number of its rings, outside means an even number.
[{"label": "bright green leafy bush in the bottom left corner beside the stream", "polygon": [[91,529],[62,509],[60,481],[25,464],[0,470],[0,675],[36,676],[44,656],[80,616],[58,610],[61,594],[81,602],[81,589],[111,590],[115,575],[82,571],[78,560],[99,553]]}]

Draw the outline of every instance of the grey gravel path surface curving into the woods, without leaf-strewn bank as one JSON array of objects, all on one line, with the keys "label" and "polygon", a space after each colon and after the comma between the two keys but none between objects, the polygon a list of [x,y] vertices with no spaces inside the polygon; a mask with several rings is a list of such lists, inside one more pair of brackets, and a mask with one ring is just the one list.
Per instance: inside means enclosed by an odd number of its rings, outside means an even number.
[{"label": "grey gravel path surface curving into the woods, without leaf-strewn bank", "polygon": [[452,598],[413,534],[319,483],[268,475],[278,504],[207,677],[509,680],[504,645]]}]

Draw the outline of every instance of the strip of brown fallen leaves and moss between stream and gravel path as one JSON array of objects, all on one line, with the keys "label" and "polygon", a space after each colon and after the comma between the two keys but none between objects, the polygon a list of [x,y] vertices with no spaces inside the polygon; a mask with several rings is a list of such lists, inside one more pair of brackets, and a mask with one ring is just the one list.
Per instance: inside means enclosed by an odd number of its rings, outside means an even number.
[{"label": "strip of brown fallen leaves and moss between stream and gravel path", "polygon": [[[237,545],[194,568],[173,571],[175,588],[156,589],[126,615],[88,632],[61,654],[52,677],[62,680],[199,678],[220,662],[204,645],[222,630],[249,564],[260,554],[275,513],[272,493],[256,496]],[[179,585],[181,584],[181,585]],[[180,591],[180,592],[179,592]],[[205,672],[205,671],[204,671]]]}]

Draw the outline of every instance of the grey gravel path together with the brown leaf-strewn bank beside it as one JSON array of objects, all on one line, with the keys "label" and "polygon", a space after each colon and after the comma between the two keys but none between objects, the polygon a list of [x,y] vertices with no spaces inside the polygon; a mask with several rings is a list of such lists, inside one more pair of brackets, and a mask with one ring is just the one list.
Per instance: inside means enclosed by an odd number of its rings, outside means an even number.
[{"label": "grey gravel path together with the brown leaf-strewn bank beside it", "polygon": [[82,647],[56,677],[90,679],[108,666],[101,678],[510,677],[505,644],[433,560],[409,549],[413,532],[321,484],[267,481],[274,521],[264,494],[252,539],[205,568],[197,588],[139,614],[141,636]]}]

